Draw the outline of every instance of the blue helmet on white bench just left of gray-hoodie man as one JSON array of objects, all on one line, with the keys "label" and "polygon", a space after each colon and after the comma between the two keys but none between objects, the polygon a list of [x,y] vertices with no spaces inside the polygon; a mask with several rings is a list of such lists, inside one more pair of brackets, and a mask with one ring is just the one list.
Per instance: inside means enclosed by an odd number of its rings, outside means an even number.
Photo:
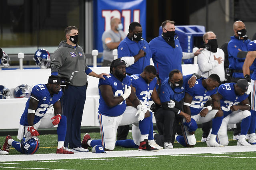
[{"label": "blue helmet on white bench just left of gray-hoodie man", "polygon": [[51,64],[50,53],[46,49],[36,50],[34,61],[40,68],[49,68]]}]

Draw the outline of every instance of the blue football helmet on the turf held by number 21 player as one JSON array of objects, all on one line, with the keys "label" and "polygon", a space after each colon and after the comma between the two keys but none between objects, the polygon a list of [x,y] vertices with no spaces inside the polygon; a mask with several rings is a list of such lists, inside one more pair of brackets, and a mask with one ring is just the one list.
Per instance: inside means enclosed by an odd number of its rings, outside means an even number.
[{"label": "blue football helmet on the turf held by number 21 player", "polygon": [[24,154],[34,154],[39,148],[39,138],[26,133],[21,140],[20,147]]}]

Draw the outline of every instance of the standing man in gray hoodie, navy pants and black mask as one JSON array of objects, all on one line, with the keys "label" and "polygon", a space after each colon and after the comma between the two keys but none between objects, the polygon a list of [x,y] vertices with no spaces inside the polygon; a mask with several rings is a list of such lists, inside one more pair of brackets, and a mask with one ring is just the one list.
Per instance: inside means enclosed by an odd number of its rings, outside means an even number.
[{"label": "standing man in gray hoodie, navy pants and black mask", "polygon": [[81,147],[80,127],[87,89],[87,75],[103,78],[86,65],[86,57],[78,43],[78,29],[68,26],[65,29],[66,41],[61,41],[53,53],[51,62],[52,75],[65,77],[70,85],[62,96],[63,115],[67,117],[67,133],[64,147],[74,152],[87,152]]}]

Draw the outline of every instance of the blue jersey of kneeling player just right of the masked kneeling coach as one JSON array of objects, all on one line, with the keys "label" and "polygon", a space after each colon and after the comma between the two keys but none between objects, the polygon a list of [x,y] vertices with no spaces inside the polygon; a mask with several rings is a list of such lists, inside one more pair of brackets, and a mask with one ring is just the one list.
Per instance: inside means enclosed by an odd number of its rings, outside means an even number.
[{"label": "blue jersey of kneeling player just right of the masked kneeling coach", "polygon": [[214,90],[206,90],[202,85],[202,80],[202,78],[196,80],[196,84],[192,88],[189,88],[188,84],[185,84],[186,92],[190,94],[190,96],[193,96],[190,106],[191,115],[197,115],[200,113],[210,96],[217,93],[217,87],[214,88]]}]

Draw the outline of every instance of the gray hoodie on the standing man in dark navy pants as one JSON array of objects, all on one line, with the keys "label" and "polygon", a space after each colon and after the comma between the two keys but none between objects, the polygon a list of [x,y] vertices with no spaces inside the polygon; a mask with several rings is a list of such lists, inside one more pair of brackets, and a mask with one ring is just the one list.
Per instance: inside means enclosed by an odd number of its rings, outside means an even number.
[{"label": "gray hoodie on the standing man in dark navy pants", "polygon": [[68,45],[61,41],[58,49],[54,51],[51,62],[51,73],[58,72],[60,77],[70,80],[72,86],[84,86],[87,82],[85,70],[90,69],[86,65],[86,58],[82,47]]}]

